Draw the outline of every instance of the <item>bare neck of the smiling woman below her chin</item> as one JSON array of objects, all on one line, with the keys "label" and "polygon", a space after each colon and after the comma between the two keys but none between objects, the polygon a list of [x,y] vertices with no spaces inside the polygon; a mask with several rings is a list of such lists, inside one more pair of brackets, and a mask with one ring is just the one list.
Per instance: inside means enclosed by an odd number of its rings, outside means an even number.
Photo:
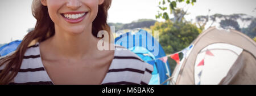
[{"label": "bare neck of the smiling woman below her chin", "polygon": [[55,31],[51,45],[63,58],[82,59],[96,53],[98,38],[93,36],[92,27],[81,33],[65,32],[58,27]]}]

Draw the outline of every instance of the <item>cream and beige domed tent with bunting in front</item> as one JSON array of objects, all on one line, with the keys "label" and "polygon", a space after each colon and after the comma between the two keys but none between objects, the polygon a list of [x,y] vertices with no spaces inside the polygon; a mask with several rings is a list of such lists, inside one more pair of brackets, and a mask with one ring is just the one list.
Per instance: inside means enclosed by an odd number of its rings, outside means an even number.
[{"label": "cream and beige domed tent with bunting in front", "polygon": [[236,30],[209,28],[172,74],[175,84],[256,84],[256,43]]}]

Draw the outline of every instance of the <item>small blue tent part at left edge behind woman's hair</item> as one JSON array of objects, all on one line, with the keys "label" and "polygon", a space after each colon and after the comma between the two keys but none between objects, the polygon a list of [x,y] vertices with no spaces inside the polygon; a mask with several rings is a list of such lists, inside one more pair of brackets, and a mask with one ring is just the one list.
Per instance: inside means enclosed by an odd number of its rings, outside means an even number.
[{"label": "small blue tent part at left edge behind woman's hair", "polygon": [[17,49],[22,41],[16,40],[0,47],[0,56],[5,56]]}]

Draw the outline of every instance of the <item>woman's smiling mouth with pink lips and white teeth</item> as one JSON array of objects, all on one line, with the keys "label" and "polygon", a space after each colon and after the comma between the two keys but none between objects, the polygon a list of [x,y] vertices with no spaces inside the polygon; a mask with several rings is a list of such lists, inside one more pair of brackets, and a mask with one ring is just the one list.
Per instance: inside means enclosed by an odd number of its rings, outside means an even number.
[{"label": "woman's smiling mouth with pink lips and white teeth", "polygon": [[61,14],[68,23],[79,23],[84,20],[88,12],[65,12]]}]

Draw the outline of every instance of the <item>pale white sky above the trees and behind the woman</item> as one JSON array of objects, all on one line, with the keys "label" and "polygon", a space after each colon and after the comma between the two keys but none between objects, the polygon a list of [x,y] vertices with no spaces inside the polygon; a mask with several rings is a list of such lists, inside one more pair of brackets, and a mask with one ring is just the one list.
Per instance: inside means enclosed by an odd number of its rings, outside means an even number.
[{"label": "pale white sky above the trees and behind the woman", "polygon": [[[112,0],[108,22],[130,23],[138,19],[155,19],[160,0]],[[0,1],[0,43],[11,40],[22,40],[28,28],[35,26],[36,20],[31,14],[32,0],[1,0]],[[197,0],[195,5],[179,3],[189,15],[187,20],[195,20],[198,15],[212,14],[247,14],[256,17],[256,0]],[[158,19],[158,21],[163,21]]]}]

